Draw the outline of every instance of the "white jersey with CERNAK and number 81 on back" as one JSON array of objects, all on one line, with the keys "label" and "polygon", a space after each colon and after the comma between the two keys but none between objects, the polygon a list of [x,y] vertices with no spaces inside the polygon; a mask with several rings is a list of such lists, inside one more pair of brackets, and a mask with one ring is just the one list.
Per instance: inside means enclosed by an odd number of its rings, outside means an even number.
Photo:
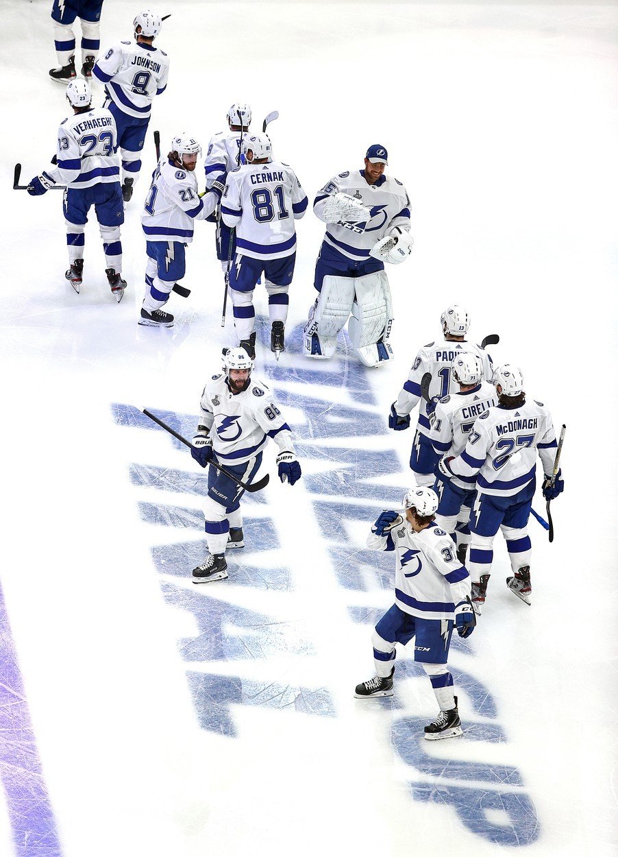
[{"label": "white jersey with CERNAK and number 81 on back", "polygon": [[280,161],[246,164],[229,173],[221,200],[226,226],[236,227],[236,251],[253,259],[282,259],[296,249],[294,220],[308,201],[292,167]]}]

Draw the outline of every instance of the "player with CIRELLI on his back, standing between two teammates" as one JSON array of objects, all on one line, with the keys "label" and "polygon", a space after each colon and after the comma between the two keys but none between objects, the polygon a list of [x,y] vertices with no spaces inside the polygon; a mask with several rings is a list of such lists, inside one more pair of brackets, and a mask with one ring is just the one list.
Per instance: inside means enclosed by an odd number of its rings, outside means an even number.
[{"label": "player with CIRELLI on his back, standing between two teammates", "polygon": [[[483,381],[484,361],[478,354],[462,351],[451,365],[451,377],[459,386],[459,393],[439,399],[430,414],[431,446],[439,457],[459,455],[466,446],[474,421],[492,405],[497,405],[496,388]],[[436,523],[446,530],[457,544],[457,559],[466,564],[466,550],[470,542],[468,520],[474,500],[476,480],[473,476],[443,479],[437,474],[434,490],[440,505]]]}]

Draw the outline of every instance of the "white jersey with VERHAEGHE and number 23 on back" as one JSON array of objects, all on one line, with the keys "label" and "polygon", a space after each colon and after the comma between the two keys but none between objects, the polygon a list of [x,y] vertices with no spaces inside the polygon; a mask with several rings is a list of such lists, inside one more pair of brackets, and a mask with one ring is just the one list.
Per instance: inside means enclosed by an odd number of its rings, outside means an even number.
[{"label": "white jersey with VERHAEGHE and number 23 on back", "polygon": [[116,120],[104,107],[75,113],[58,129],[57,165],[45,175],[68,188],[120,181]]}]

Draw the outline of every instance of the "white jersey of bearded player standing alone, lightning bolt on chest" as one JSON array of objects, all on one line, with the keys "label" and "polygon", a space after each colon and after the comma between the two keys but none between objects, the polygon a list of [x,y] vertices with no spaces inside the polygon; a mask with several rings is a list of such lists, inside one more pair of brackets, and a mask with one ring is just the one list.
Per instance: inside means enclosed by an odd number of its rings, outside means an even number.
[{"label": "white jersey of bearded player standing alone, lightning bolt on chest", "polygon": [[245,464],[272,438],[279,452],[294,452],[292,431],[264,381],[251,378],[242,393],[231,393],[226,376],[213,375],[199,402],[198,431],[210,430],[221,464]]}]

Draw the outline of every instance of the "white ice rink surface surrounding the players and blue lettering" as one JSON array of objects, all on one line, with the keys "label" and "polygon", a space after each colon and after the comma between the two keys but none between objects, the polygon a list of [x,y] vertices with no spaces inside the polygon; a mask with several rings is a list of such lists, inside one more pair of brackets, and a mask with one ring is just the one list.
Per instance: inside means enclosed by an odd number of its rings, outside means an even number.
[{"label": "white ice rink surface surrounding the players and blue lettering", "polygon": [[[145,524],[138,503],[199,510],[199,498],[136,487],[128,467],[192,470],[193,462],[163,433],[117,426],[110,405],[195,412],[233,337],[231,317],[223,332],[211,226],[198,224],[187,252],[193,294],[173,297],[175,327],[136,324],[152,135],[122,231],[129,287],[120,305],[105,281],[93,216],[77,296],[63,278],[61,195],[10,189],[16,161],[25,180],[44,169],[66,115],[62,87],[47,79],[55,64],[50,8],[47,0],[0,2],[0,579],[62,854],[369,855],[378,838],[381,853],[396,857],[504,850],[449,807],[414,801],[406,781],[423,777],[391,746],[390,710],[352,698],[371,675],[371,626],[351,622],[348,606],[386,608],[389,590],[342,588],[311,496],[303,482],[279,484],[272,450],[268,510],[281,547],[260,561],[287,564],[289,589],[239,586],[232,570],[199,596],[292,622],[312,653],[201,667],[181,659],[177,639],[195,632],[193,618],[163,600],[150,549],[187,535]],[[474,337],[499,333],[495,359],[520,364],[527,389],[550,405],[556,425],[567,423],[556,541],[530,524],[532,608],[506,591],[497,538],[474,657],[452,657],[490,688],[508,740],[472,750],[465,740],[441,742],[428,752],[518,768],[540,824],[526,854],[615,854],[615,4],[169,9],[160,39],[171,57],[169,88],[151,123],[162,141],[189,129],[205,145],[234,100],[251,104],[259,121],[278,109],[276,155],[294,166],[310,199],[331,175],[360,167],[370,143],[389,149],[388,171],[411,196],[415,243],[406,265],[389,270],[396,361],[367,373],[377,400],[369,410],[386,419],[417,347],[437,338],[441,311],[457,302],[471,311]],[[103,46],[130,38],[136,10],[105,0]],[[311,211],[298,225],[290,330],[314,299],[323,228]],[[256,295],[263,318],[264,292]],[[318,368],[293,355],[281,365]],[[265,369],[258,359],[257,372]],[[407,432],[375,442],[400,455],[397,485],[408,481],[411,440]],[[303,467],[318,472],[324,462]],[[536,505],[544,510],[542,500]],[[367,523],[379,508],[367,503]],[[362,527],[345,527],[361,548]],[[242,561],[251,568],[248,551]],[[191,588],[189,572],[175,584]],[[216,735],[199,728],[187,668],[324,687],[336,716],[232,706],[236,737]],[[402,681],[399,692],[406,715],[435,714],[425,679]],[[469,716],[465,692],[461,716]],[[0,844],[9,836],[4,813],[0,800]]]}]

